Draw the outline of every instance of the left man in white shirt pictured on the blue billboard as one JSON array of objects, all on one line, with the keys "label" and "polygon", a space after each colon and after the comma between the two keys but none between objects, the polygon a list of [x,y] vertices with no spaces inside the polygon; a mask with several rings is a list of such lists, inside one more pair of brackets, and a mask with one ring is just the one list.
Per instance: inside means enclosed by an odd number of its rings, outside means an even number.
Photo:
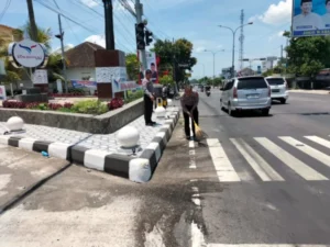
[{"label": "left man in white shirt pictured on the blue billboard", "polygon": [[322,30],[324,24],[319,14],[312,13],[312,0],[301,0],[301,13],[294,18],[294,31]]}]

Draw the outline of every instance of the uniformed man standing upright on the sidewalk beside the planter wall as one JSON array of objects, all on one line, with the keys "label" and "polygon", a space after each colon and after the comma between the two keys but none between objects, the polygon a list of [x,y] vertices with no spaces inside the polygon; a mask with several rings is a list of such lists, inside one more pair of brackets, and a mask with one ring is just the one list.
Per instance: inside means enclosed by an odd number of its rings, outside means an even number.
[{"label": "uniformed man standing upright on the sidewalk beside the planter wall", "polygon": [[142,80],[142,85],[144,88],[144,120],[146,126],[154,126],[156,123],[152,121],[153,115],[153,102],[155,100],[154,97],[154,85],[151,81],[152,70],[145,70],[145,77]]}]

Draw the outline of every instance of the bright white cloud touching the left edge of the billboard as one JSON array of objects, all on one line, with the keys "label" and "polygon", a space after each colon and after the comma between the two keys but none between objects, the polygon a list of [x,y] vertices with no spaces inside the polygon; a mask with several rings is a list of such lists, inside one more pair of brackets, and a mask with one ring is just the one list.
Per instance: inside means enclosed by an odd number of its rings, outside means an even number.
[{"label": "bright white cloud touching the left edge of the billboard", "polygon": [[271,4],[257,19],[266,24],[284,24],[292,18],[292,7],[293,0],[282,0],[277,4]]}]

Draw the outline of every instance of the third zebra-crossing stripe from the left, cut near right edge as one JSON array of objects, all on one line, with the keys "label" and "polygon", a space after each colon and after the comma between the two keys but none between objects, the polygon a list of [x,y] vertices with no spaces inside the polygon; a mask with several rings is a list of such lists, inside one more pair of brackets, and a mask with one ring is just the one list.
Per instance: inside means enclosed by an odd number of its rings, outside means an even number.
[{"label": "third zebra-crossing stripe from the left, cut near right edge", "polygon": [[274,144],[272,141],[265,137],[256,137],[254,139],[304,179],[310,181],[328,180],[328,178],[310,168],[305,162],[300,161],[299,159]]}]

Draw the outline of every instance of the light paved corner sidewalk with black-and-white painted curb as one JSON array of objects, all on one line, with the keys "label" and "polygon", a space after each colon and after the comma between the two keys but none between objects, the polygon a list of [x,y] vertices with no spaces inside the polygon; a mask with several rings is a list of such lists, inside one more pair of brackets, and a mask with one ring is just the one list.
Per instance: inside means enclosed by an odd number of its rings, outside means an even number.
[{"label": "light paved corner sidewalk with black-and-white painted curb", "polygon": [[158,123],[156,126],[145,126],[143,115],[128,124],[140,133],[135,150],[120,147],[117,142],[120,130],[108,135],[96,135],[25,124],[23,133],[3,135],[7,131],[3,122],[0,122],[0,144],[38,153],[47,151],[51,157],[67,159],[135,182],[146,182],[170,138],[178,114],[178,108],[172,106],[167,109],[166,119],[156,119],[153,114],[153,121]]}]

